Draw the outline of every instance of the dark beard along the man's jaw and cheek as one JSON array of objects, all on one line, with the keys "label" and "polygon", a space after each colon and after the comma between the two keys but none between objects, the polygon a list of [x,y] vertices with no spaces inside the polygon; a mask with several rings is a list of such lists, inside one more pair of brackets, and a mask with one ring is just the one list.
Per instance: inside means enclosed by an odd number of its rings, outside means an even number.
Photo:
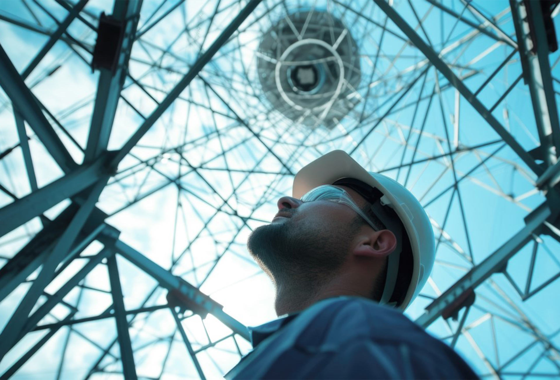
[{"label": "dark beard along the man's jaw and cheek", "polygon": [[296,228],[291,222],[256,228],[247,247],[276,287],[318,290],[342,268],[351,231],[309,223]]}]

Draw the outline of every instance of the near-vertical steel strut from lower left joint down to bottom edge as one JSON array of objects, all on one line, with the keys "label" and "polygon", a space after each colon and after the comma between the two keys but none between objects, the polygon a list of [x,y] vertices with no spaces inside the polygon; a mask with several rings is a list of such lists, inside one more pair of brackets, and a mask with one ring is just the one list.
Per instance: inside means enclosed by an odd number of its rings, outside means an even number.
[{"label": "near-vertical steel strut from lower left joint down to bottom edge", "polygon": [[137,379],[136,365],[134,365],[134,353],[130,334],[128,332],[128,321],[123,302],[123,290],[120,287],[119,268],[116,264],[115,255],[107,258],[109,270],[109,282],[111,283],[111,294],[113,294],[113,307],[115,308],[116,332],[119,338],[120,357],[123,363],[123,374],[125,379]]}]

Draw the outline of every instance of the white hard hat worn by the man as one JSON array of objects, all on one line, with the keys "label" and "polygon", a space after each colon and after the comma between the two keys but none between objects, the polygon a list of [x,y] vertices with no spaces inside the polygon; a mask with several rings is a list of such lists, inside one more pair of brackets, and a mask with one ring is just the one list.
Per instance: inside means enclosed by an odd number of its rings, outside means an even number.
[{"label": "white hard hat worn by the man", "polygon": [[[344,178],[360,180],[381,191],[384,195],[381,204],[388,204],[394,210],[408,234],[413,269],[407,293],[398,305],[404,311],[426,284],[432,271],[436,252],[430,219],[406,187],[387,176],[366,171],[344,151],[332,151],[303,167],[293,180],[292,196],[299,199],[317,186],[331,185]],[[392,280],[394,284],[395,278],[389,277],[390,271],[387,283]]]}]

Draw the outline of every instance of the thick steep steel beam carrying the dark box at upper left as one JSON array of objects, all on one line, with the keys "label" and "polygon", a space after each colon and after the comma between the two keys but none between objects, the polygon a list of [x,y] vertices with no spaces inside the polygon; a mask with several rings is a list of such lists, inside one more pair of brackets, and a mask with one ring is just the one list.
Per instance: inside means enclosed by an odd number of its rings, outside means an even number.
[{"label": "thick steep steel beam carrying the dark box at upper left", "polygon": [[93,161],[95,157],[105,151],[109,143],[120,91],[128,72],[128,60],[134,43],[134,35],[136,35],[141,7],[142,1],[137,0],[116,1],[113,7],[113,17],[124,24],[124,36],[116,71],[113,73],[109,69],[100,69],[90,134],[83,158],[84,163]]}]

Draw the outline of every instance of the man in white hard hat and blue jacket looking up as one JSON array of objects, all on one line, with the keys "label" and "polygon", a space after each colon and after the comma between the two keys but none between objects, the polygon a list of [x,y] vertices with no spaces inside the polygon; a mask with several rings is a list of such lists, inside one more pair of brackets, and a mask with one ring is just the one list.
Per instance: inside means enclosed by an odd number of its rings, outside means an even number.
[{"label": "man in white hard hat and blue jacket looking up", "polygon": [[278,320],[226,379],[478,378],[402,314],[435,259],[431,223],[405,187],[343,151],[302,168],[251,256],[276,288]]}]

